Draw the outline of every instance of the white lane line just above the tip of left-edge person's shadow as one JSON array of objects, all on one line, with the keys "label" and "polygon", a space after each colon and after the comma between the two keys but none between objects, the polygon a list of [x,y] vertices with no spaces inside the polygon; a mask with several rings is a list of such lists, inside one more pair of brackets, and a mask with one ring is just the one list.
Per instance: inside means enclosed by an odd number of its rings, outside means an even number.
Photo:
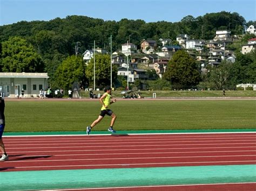
[{"label": "white lane line just above the tip of left-edge person's shadow", "polygon": [[[188,147],[188,148],[143,148],[143,150],[198,150],[198,149],[211,149],[211,148],[255,148],[256,146],[234,146],[234,147]],[[38,148],[38,147],[37,147]],[[49,147],[46,147],[49,148]],[[55,148],[59,148],[59,147],[55,147]],[[73,147],[69,147],[69,148],[73,148]],[[8,148],[8,150],[10,150],[10,148]],[[17,150],[17,148],[15,148],[15,150]],[[47,150],[47,151],[10,151],[8,153],[35,153],[35,152],[72,152],[72,151],[86,151],[86,152],[91,152],[91,151],[141,151],[141,148],[127,148],[127,149],[105,149],[105,150],[55,150],[55,151],[51,151],[51,150]]]}]

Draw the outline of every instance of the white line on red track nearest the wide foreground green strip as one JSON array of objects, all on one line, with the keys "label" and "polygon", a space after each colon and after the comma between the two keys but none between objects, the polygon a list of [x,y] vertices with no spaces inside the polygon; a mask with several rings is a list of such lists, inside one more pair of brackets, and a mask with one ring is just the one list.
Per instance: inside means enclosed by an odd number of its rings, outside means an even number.
[{"label": "white line on red track nearest the wide foreground green strip", "polygon": [[[6,162],[6,161],[5,161]],[[59,166],[21,166],[15,168],[52,168],[52,167],[95,167],[95,166],[138,166],[138,165],[174,165],[174,164],[206,164],[206,163],[234,163],[234,162],[256,162],[256,160],[236,160],[236,161],[206,161],[206,162],[157,162],[157,163],[135,163],[135,164],[101,164],[101,165],[59,165]],[[4,167],[2,167],[4,168]]]}]

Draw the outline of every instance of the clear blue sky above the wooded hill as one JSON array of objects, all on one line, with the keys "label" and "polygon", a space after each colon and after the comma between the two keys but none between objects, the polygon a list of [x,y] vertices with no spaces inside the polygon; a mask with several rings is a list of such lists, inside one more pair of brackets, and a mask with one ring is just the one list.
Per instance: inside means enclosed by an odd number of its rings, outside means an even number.
[{"label": "clear blue sky above the wooded hill", "polygon": [[238,12],[246,22],[256,20],[256,0],[0,0],[0,25],[69,15],[179,22],[187,15],[220,11]]}]

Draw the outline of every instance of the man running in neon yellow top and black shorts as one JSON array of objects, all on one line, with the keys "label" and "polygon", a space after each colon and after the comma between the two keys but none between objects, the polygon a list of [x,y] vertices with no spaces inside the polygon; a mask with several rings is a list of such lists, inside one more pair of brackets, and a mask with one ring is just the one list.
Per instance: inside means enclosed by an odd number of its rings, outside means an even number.
[{"label": "man running in neon yellow top and black shorts", "polygon": [[114,125],[114,122],[116,121],[117,116],[113,113],[112,110],[109,109],[110,104],[116,102],[116,99],[111,100],[111,88],[110,87],[105,87],[104,92],[105,93],[99,98],[100,103],[102,103],[102,109],[100,111],[99,117],[94,122],[92,122],[91,126],[87,126],[87,128],[86,128],[87,135],[90,134],[91,129],[95,125],[97,125],[100,121],[102,121],[102,119],[105,115],[112,117],[110,127],[107,130],[112,133],[116,132],[115,130],[113,130],[113,125]]}]

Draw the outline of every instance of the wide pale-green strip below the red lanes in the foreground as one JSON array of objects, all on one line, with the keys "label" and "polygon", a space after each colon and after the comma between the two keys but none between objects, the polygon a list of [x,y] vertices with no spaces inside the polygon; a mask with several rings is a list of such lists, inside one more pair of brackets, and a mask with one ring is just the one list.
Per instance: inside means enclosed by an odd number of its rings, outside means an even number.
[{"label": "wide pale-green strip below the red lanes in the foreground", "polygon": [[255,182],[256,165],[2,172],[1,190]]}]

